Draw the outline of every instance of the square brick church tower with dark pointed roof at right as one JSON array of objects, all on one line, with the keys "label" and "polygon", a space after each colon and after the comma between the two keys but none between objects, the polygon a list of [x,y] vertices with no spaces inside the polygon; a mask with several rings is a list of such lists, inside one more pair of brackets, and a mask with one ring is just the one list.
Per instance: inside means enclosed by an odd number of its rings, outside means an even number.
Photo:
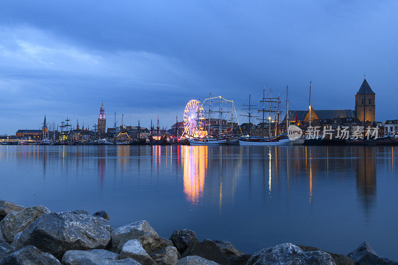
[{"label": "square brick church tower with dark pointed roof at right", "polygon": [[360,121],[376,121],[376,94],[370,88],[366,77],[364,82],[362,82],[361,88],[359,88],[357,94],[355,95],[355,111],[357,112],[357,118]]}]

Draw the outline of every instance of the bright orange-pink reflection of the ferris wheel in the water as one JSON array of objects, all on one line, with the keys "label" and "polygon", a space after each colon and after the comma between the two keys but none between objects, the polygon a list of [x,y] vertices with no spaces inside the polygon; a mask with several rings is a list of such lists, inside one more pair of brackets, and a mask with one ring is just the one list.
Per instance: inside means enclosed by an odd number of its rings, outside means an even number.
[{"label": "bright orange-pink reflection of the ferris wheel in the water", "polygon": [[207,146],[182,146],[184,193],[192,205],[203,197],[204,178],[207,174]]}]

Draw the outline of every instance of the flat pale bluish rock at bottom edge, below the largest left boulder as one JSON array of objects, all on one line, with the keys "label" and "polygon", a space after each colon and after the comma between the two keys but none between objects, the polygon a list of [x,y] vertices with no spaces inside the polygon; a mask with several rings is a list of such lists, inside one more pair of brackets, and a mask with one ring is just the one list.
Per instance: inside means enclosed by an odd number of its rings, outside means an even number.
[{"label": "flat pale bluish rock at bottom edge, below the largest left boulder", "polygon": [[64,265],[97,265],[116,261],[119,255],[106,250],[68,250],[62,257]]}]

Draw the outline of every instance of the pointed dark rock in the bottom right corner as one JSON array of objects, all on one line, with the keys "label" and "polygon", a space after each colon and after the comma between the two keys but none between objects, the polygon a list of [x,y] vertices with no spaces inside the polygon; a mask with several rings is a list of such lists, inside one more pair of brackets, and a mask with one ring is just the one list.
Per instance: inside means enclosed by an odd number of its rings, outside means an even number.
[{"label": "pointed dark rock in the bottom right corner", "polygon": [[368,242],[364,241],[356,250],[348,254],[355,264],[365,265],[365,264],[378,264],[378,265],[393,265],[396,262],[381,258],[376,252],[371,248]]}]

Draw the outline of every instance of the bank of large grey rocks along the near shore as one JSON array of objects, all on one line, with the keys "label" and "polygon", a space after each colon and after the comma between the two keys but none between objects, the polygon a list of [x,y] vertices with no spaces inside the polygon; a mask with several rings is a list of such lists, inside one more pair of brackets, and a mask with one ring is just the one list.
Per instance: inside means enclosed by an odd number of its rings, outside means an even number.
[{"label": "bank of large grey rocks along the near shore", "polygon": [[0,265],[393,265],[365,241],[347,255],[283,243],[244,254],[189,229],[159,236],[144,220],[111,228],[105,211],[51,212],[0,200]]}]

